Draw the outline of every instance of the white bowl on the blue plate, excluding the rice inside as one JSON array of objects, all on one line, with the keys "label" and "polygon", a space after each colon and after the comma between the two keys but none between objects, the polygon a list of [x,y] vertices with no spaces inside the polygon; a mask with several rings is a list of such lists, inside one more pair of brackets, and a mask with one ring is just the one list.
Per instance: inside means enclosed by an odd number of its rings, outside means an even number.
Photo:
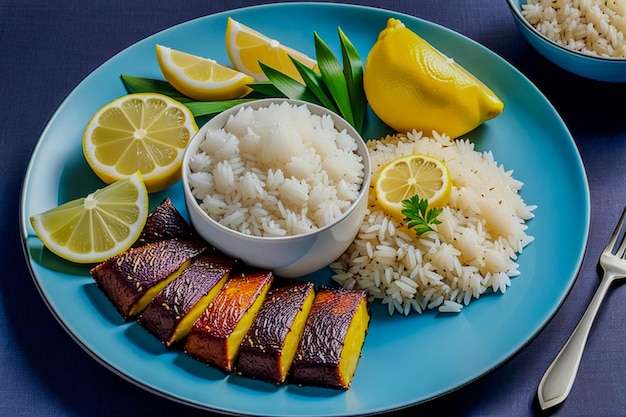
[{"label": "white bowl on the blue plate, excluding the rice inside", "polygon": [[251,236],[221,225],[212,219],[198,204],[189,185],[189,161],[197,154],[200,143],[209,129],[224,126],[231,114],[242,106],[258,109],[285,99],[262,99],[235,106],[209,120],[190,141],[183,158],[182,183],[185,203],[192,226],[208,243],[225,254],[240,259],[248,265],[269,269],[285,278],[313,273],[336,260],[352,243],[365,216],[370,186],[370,159],[365,142],[357,131],[343,118],[321,106],[297,100],[291,104],[306,105],[312,114],[329,114],[338,131],[346,129],[356,139],[357,153],[363,158],[365,175],[357,200],[332,224],[316,231],[285,237]]}]

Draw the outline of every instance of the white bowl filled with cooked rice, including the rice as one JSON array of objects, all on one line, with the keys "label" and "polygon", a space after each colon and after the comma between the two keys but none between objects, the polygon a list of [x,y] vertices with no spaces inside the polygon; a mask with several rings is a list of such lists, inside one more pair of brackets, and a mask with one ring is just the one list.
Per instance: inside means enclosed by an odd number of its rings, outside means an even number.
[{"label": "white bowl filled with cooked rice, including the rice", "polygon": [[264,99],[207,122],[187,147],[182,180],[191,224],[208,243],[297,277],[327,266],[356,236],[370,162],[338,115]]}]

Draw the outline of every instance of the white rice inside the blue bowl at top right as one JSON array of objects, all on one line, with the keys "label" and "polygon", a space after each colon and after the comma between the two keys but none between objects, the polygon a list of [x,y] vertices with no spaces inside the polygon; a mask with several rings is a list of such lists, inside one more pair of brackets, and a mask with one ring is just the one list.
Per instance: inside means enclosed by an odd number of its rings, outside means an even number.
[{"label": "white rice inside the blue bowl at top right", "polygon": [[626,58],[626,0],[527,0],[522,16],[559,45]]}]

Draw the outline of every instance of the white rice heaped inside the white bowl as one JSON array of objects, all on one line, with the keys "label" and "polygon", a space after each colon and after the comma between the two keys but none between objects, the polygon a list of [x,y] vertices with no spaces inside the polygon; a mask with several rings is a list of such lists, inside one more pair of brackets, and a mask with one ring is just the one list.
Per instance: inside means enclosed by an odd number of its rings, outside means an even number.
[{"label": "white rice heaped inside the white bowl", "polygon": [[337,220],[364,178],[357,142],[329,115],[306,105],[242,107],[208,130],[191,157],[190,189],[200,207],[244,234],[282,237]]}]

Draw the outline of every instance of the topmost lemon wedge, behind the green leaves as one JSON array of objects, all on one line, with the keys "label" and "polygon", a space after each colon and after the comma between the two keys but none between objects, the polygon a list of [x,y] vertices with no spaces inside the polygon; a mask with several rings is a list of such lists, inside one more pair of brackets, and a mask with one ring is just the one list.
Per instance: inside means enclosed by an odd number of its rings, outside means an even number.
[{"label": "topmost lemon wedge, behind the green leaves", "polygon": [[317,67],[317,61],[308,55],[284,46],[276,39],[271,39],[230,17],[226,26],[226,50],[233,66],[257,81],[267,80],[259,61],[300,82],[303,82],[302,77],[289,56],[309,68]]}]

